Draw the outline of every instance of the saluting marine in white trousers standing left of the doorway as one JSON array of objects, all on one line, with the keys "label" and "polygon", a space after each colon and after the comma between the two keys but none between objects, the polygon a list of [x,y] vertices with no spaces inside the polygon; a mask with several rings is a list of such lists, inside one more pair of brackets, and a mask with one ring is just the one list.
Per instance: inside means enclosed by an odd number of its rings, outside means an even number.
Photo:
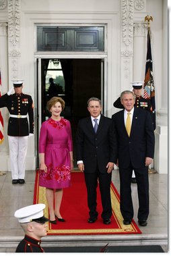
[{"label": "saluting marine in white trousers standing left of the doorway", "polygon": [[[9,122],[7,135],[13,184],[24,184],[28,137],[34,133],[32,97],[22,93],[23,80],[13,80],[13,87],[0,98],[0,107],[7,107]],[[11,94],[12,91],[15,93]],[[28,118],[29,123],[28,123]]]}]

